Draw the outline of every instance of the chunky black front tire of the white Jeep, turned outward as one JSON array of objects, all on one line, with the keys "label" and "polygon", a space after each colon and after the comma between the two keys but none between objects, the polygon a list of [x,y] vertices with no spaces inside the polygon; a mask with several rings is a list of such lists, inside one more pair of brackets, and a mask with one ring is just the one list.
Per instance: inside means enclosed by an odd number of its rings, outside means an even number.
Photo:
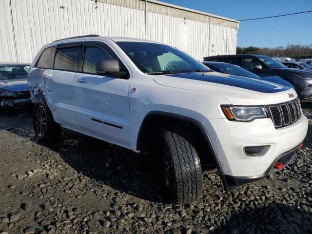
[{"label": "chunky black front tire of the white Jeep, turned outward", "polygon": [[187,126],[161,131],[165,186],[172,203],[190,203],[201,197],[203,178],[199,156]]}]

